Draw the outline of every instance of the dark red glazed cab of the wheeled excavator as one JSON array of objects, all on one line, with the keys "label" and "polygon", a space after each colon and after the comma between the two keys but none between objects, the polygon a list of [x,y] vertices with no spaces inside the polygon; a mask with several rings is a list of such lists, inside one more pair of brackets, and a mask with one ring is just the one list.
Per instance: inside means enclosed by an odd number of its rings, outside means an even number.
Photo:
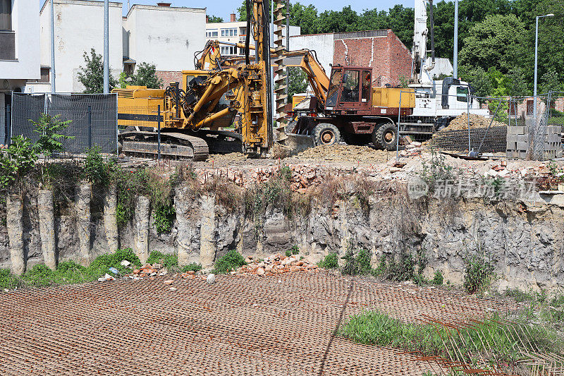
[{"label": "dark red glazed cab of the wheeled excavator", "polygon": [[334,66],[331,70],[326,111],[362,111],[369,109],[372,92],[372,68]]}]

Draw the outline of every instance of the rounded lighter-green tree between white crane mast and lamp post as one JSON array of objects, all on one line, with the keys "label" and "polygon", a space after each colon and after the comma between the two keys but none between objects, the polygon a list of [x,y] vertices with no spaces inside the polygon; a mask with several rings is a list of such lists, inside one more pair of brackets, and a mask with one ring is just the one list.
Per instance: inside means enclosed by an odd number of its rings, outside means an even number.
[{"label": "rounded lighter-green tree between white crane mast and lamp post", "polygon": [[525,26],[513,14],[486,16],[470,28],[470,35],[460,49],[460,63],[508,73],[515,66],[513,46],[523,33]]}]

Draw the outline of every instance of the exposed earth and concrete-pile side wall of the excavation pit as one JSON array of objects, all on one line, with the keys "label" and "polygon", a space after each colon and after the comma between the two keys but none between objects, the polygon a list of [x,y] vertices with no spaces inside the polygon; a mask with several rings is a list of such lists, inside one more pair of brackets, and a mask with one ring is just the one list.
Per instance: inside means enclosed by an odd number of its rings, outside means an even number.
[{"label": "exposed earth and concrete-pile side wall of the excavation pit", "polygon": [[[231,249],[243,255],[261,256],[298,245],[311,262],[321,260],[329,252],[343,255],[348,248],[365,248],[372,252],[376,266],[382,257],[398,257],[401,250],[407,249],[425,256],[427,277],[440,270],[445,279],[462,284],[467,257],[483,253],[495,266],[494,286],[499,290],[510,287],[564,291],[564,209],[558,205],[482,199],[415,202],[402,195],[359,200],[351,195],[329,206],[312,202],[307,213],[284,214],[269,206],[258,216],[252,216],[245,211],[245,205],[214,205],[213,197],[195,197],[191,190],[181,188],[176,190],[175,201],[177,219],[171,231],[157,234],[151,216],[147,241],[149,252],[178,253],[180,248],[183,263],[209,266]],[[182,207],[178,207],[178,202],[183,202]],[[56,204],[58,260],[80,259],[78,229],[82,226],[74,205],[72,200]],[[27,193],[23,203],[27,269],[44,262],[36,213],[37,194]],[[179,215],[183,217],[178,218]],[[137,226],[130,223],[119,230],[122,248],[135,248]],[[6,237],[3,220],[0,267],[13,266]],[[94,207],[90,258],[111,251],[104,231],[104,215]]]}]

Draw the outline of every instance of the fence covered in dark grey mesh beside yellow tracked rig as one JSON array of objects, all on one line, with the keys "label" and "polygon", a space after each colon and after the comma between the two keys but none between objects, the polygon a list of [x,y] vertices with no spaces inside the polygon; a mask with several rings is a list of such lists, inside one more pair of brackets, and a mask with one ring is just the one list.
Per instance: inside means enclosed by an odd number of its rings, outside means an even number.
[{"label": "fence covered in dark grey mesh beside yellow tracked rig", "polygon": [[37,140],[32,121],[41,114],[59,116],[71,121],[61,133],[73,136],[63,140],[63,152],[81,154],[89,147],[100,147],[101,152],[118,151],[117,97],[115,94],[18,94],[12,96],[11,137],[23,135]]}]

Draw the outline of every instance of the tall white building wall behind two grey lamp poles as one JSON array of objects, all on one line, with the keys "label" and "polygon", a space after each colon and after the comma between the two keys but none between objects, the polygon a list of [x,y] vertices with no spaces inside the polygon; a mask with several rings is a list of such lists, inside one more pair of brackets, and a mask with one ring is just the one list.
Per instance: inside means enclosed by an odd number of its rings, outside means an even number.
[{"label": "tall white building wall behind two grey lamp poles", "polygon": [[[104,2],[83,0],[53,0],[55,8],[55,67],[57,92],[82,92],[78,82],[80,66],[85,66],[82,54],[94,48],[104,53]],[[111,74],[118,78],[123,71],[123,41],[121,3],[109,5],[109,63]],[[51,66],[49,0],[40,13],[41,63]],[[39,78],[39,77],[38,77]]]}]

